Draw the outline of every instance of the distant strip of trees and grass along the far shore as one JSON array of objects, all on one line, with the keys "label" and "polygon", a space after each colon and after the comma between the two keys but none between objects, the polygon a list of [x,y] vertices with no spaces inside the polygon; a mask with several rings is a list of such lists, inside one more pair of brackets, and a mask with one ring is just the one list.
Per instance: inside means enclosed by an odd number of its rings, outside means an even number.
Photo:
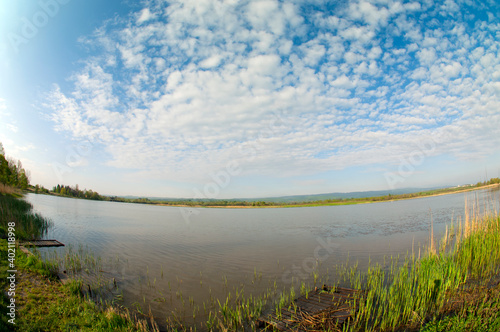
[{"label": "distant strip of trees and grass along the far shore", "polygon": [[48,190],[43,186],[29,186],[28,192],[35,194],[54,195],[60,197],[89,199],[98,201],[121,202],[121,203],[136,203],[150,204],[160,206],[176,206],[176,207],[206,207],[206,208],[290,208],[290,207],[314,207],[314,206],[331,206],[331,205],[354,205],[367,204],[376,202],[392,202],[405,199],[414,199],[422,197],[432,197],[447,194],[463,193],[472,190],[479,190],[500,185],[500,178],[491,178],[488,181],[478,182],[477,184],[441,188],[434,190],[419,191],[407,194],[372,197],[356,197],[356,198],[332,198],[317,201],[297,201],[297,202],[271,202],[271,201],[249,201],[238,199],[149,199],[149,198],[125,198],[118,196],[104,196],[93,190],[80,190],[78,185],[75,187],[67,185],[57,185]]}]

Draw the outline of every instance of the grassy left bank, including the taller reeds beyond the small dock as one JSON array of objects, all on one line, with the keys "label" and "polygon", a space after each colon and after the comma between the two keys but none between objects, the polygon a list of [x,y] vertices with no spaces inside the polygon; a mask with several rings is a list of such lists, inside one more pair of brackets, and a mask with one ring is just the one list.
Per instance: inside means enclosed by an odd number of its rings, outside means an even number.
[{"label": "grassy left bank, including the taller reeds beyond the small dock", "polygon": [[[13,197],[12,192],[0,194],[0,212],[0,287],[5,291],[0,296],[0,331],[150,330],[145,321],[132,318],[125,309],[98,307],[85,298],[81,281],[72,280],[63,285],[57,278],[55,264],[27,256],[18,248],[14,257],[9,256],[13,247],[9,246],[8,239],[12,239],[13,234],[17,240],[36,239],[44,234],[50,222],[33,213],[31,205]],[[12,288],[7,277],[13,274],[7,271],[14,269],[16,283]],[[12,296],[7,295],[7,291]],[[12,299],[16,305],[15,319],[9,322],[12,316],[7,315],[7,305]]]}]

